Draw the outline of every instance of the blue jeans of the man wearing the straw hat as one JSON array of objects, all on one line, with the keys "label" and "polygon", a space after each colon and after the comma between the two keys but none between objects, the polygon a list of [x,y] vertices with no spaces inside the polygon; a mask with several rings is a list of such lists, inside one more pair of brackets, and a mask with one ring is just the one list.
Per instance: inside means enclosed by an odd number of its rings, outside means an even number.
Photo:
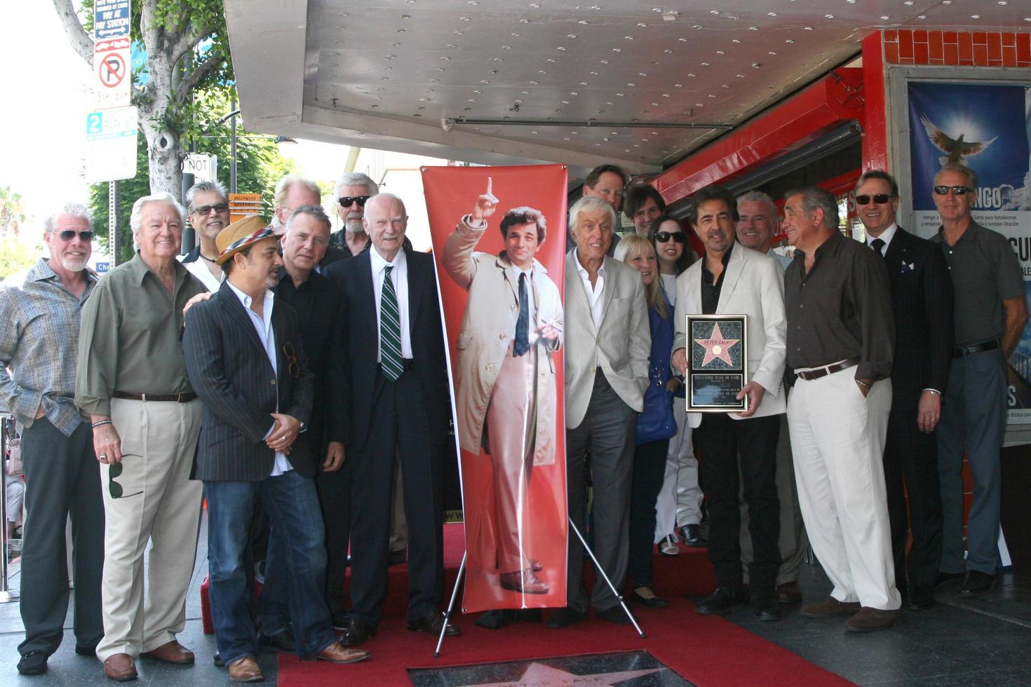
[{"label": "blue jeans of the man wearing the straw hat", "polygon": [[[258,655],[246,564],[251,520],[260,499],[286,558],[286,585],[297,652],[319,653],[336,640],[326,605],[326,547],[314,482],[291,470],[260,482],[205,481],[211,621],[228,665]],[[269,631],[270,628],[267,629]]]}]

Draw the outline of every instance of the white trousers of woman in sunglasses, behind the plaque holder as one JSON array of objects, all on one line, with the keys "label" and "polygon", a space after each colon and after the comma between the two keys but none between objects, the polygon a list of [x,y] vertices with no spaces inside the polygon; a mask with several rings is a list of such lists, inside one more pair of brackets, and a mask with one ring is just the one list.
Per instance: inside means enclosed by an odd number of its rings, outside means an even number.
[{"label": "white trousers of woman in sunglasses, behind the plaque holder", "polygon": [[691,425],[684,399],[673,398],[673,417],[676,418],[676,434],[669,440],[666,472],[655,504],[656,543],[671,535],[677,525],[702,521],[703,494],[698,486],[698,458],[691,444]]}]

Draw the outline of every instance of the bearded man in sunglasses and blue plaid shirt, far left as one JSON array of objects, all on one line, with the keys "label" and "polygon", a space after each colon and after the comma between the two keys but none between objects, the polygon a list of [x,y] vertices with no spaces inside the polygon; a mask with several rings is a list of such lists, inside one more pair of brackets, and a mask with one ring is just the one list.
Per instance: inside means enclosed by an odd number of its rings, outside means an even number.
[{"label": "bearded man in sunglasses and blue plaid shirt, far left", "polygon": [[[18,672],[46,672],[68,612],[65,523],[71,516],[75,653],[92,656],[104,633],[100,573],[104,507],[93,432],[72,403],[82,304],[97,277],[87,267],[93,219],[69,203],[43,221],[49,257],[21,283],[0,287],[0,407],[21,422],[26,519],[21,611],[25,641]],[[0,494],[2,496],[2,494]],[[2,555],[2,553],[0,553]]]}]

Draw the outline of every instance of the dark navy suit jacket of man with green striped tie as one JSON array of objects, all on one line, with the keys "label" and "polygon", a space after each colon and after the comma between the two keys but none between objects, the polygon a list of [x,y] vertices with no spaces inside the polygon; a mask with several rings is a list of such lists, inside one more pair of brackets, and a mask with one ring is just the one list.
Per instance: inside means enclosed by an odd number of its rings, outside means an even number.
[{"label": "dark navy suit jacket of man with green striped tie", "polygon": [[[423,390],[426,419],[435,441],[446,438],[451,421],[451,391],[444,357],[444,336],[440,322],[433,256],[405,249],[408,264],[408,334],[411,354]],[[369,437],[373,406],[372,392],[379,369],[379,330],[376,323],[372,263],[366,250],[350,260],[333,263],[326,276],[341,290],[343,320],[341,355],[344,367],[344,445],[362,450]],[[405,373],[410,374],[410,373]]]}]

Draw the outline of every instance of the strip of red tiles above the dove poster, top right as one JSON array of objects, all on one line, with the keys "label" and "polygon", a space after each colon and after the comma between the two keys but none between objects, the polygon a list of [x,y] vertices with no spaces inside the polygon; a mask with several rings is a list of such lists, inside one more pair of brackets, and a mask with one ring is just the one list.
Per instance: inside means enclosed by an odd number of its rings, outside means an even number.
[{"label": "strip of red tiles above the dove poster, top right", "polygon": [[884,41],[893,65],[1031,67],[1031,33],[892,29]]}]

